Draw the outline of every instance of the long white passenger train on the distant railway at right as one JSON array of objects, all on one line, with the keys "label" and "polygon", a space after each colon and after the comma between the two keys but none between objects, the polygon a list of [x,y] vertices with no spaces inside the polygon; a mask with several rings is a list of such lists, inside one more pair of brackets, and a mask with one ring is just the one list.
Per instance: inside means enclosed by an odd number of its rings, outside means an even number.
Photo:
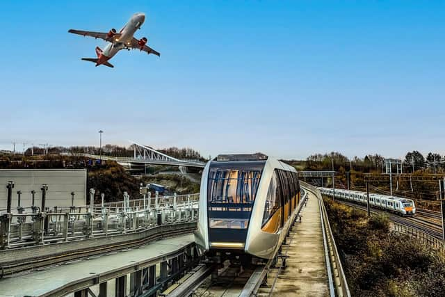
[{"label": "long white passenger train on the distant railway at right", "polygon": [[[323,195],[332,197],[334,190],[332,188],[318,188]],[[335,198],[350,200],[360,204],[367,204],[365,192],[335,190]],[[369,204],[373,207],[385,209],[387,211],[400,214],[401,216],[412,216],[416,213],[416,206],[411,199],[401,198],[397,196],[369,194]]]}]

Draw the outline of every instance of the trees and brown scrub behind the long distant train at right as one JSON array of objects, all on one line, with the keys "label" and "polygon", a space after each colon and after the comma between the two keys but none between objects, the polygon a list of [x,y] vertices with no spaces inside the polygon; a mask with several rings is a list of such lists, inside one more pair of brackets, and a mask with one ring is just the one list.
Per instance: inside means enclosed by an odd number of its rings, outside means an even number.
[{"label": "trees and brown scrub behind the long distant train at right", "polygon": [[[439,179],[445,176],[445,156],[430,152],[424,157],[420,152],[413,151],[407,152],[405,159],[401,161],[403,175],[397,174],[396,164],[391,166],[393,195],[412,198],[419,208],[439,210]],[[350,159],[339,152],[331,152],[312,154],[305,161],[292,160],[286,163],[298,170],[332,170],[333,167],[337,172],[336,188],[347,188],[349,175],[352,190],[366,191],[367,180],[371,193],[390,193],[390,178],[385,174],[385,158],[379,154]],[[321,186],[319,178],[307,178],[307,182]],[[332,179],[323,179],[323,185],[332,186]]]}]

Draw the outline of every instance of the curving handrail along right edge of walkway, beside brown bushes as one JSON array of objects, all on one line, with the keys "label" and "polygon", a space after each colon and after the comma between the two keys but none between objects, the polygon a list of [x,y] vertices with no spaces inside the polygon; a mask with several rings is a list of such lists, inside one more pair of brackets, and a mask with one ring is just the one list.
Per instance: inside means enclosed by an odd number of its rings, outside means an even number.
[{"label": "curving handrail along right edge of walkway, beside brown bushes", "polygon": [[332,234],[331,226],[329,223],[329,218],[327,217],[327,212],[325,209],[325,204],[323,202],[323,198],[321,197],[321,193],[315,186],[312,186],[311,184],[307,184],[306,182],[301,182],[300,184],[302,187],[307,188],[309,191],[314,193],[316,197],[318,198],[318,201],[320,202],[321,207],[321,216],[322,216],[322,223],[325,222],[324,229],[326,231],[327,236],[327,246],[330,249],[330,269],[332,271],[332,276],[334,277],[335,287],[336,287],[336,296],[339,297],[350,297],[350,291],[348,287],[348,281],[346,280],[346,275],[343,271],[343,266],[341,265],[341,259],[339,252],[337,250],[337,245],[335,244],[334,235]]}]

